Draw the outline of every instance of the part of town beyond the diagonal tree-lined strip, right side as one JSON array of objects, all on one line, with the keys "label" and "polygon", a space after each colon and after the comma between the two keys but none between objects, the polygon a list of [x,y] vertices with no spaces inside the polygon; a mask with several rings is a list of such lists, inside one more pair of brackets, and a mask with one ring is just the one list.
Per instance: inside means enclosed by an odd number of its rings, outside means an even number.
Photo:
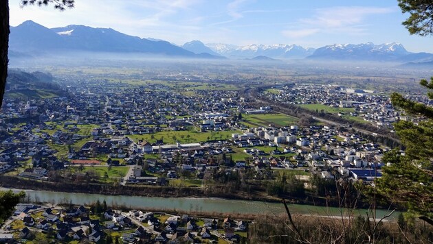
[{"label": "part of town beyond the diagonal tree-lined strip, right side", "polygon": [[[392,123],[399,120],[419,122],[395,110],[389,95],[375,90],[344,88],[336,85],[293,84],[278,89],[269,89],[266,97],[286,104],[296,104],[316,112],[335,113],[361,123],[371,123],[377,127],[392,130]],[[407,95],[408,99],[426,105],[433,101],[425,96]],[[393,131],[392,131],[393,132]]]}]

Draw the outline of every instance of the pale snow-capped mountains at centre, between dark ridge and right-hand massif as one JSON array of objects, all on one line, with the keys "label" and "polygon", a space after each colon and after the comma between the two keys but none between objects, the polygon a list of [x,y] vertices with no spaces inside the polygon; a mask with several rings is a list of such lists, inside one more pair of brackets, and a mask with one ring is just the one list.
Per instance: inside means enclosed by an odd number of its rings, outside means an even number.
[{"label": "pale snow-capped mountains at centre, between dark ridge and right-hand massif", "polygon": [[227,44],[208,44],[212,51],[223,56],[252,58],[256,56],[267,56],[269,58],[305,58],[313,53],[315,49],[304,48],[298,45],[247,45],[238,47]]}]

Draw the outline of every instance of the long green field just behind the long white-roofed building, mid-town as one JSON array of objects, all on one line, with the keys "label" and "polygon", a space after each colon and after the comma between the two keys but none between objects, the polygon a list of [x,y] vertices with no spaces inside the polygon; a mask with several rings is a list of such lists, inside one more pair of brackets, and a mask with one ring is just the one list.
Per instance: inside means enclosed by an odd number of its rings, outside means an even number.
[{"label": "long green field just behind the long white-roofed building, mid-town", "polygon": [[144,135],[129,135],[133,141],[145,140],[150,143],[155,143],[156,140],[163,139],[166,144],[179,143],[200,143],[209,140],[226,140],[232,137],[232,133],[240,133],[237,130],[221,131],[221,132],[197,132],[195,130],[184,131],[164,131],[154,134]]}]

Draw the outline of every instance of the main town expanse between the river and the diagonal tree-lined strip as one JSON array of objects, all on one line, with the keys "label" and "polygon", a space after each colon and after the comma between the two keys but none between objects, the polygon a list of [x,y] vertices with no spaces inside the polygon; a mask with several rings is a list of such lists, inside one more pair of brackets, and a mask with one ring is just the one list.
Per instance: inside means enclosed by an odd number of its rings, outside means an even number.
[{"label": "main town expanse between the river and the diagonal tree-lined strip", "polygon": [[119,184],[178,185],[188,178],[203,186],[214,169],[248,169],[257,180],[267,169],[324,178],[338,169],[368,181],[380,175],[389,150],[350,130],[299,127],[297,118],[270,107],[252,108],[227,84],[63,82],[69,97],[5,100],[5,121],[37,122],[3,123],[10,136],[2,172]]}]

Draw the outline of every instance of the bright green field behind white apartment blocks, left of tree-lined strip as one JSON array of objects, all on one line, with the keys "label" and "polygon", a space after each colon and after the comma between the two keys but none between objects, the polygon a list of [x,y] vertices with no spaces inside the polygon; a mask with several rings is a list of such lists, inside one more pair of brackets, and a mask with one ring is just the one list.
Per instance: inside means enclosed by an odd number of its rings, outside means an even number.
[{"label": "bright green field behind white apartment blocks, left of tree-lined strip", "polygon": [[249,126],[265,126],[269,124],[276,125],[278,127],[296,125],[298,118],[291,117],[286,114],[242,114],[242,118],[245,123]]}]

